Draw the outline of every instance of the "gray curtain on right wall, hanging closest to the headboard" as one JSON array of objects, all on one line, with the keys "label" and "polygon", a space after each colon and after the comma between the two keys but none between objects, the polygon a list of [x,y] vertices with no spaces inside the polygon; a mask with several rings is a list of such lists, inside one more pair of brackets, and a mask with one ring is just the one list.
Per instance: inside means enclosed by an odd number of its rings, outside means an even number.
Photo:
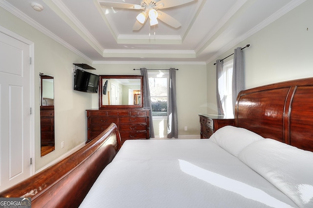
[{"label": "gray curtain on right wall, hanging closest to the headboard", "polygon": [[232,103],[235,115],[235,104],[237,96],[240,91],[245,88],[245,74],[244,74],[244,52],[241,47],[234,49],[234,64],[232,77]]}]

